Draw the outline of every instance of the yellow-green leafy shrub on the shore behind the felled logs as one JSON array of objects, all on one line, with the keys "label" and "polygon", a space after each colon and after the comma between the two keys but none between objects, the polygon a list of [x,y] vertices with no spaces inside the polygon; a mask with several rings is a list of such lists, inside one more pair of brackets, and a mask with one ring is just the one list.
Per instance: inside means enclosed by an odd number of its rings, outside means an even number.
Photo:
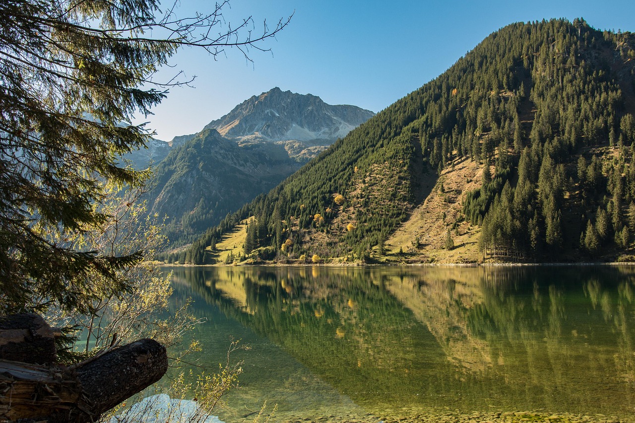
[{"label": "yellow-green leafy shrub on the shore behind the felled logs", "polygon": [[170,275],[151,261],[166,243],[163,220],[147,217],[146,203],[137,201],[139,195],[131,190],[124,194],[109,192],[100,207],[100,212],[108,216],[104,224],[98,230],[67,238],[73,245],[91,246],[112,255],[141,252],[143,261],[118,271],[117,277],[128,286],[124,292],[104,295],[102,286],[108,285],[109,279],[96,272],[91,274],[91,288],[82,293],[87,312],[50,307],[44,314],[50,325],[70,327],[74,333],[81,333],[81,342],[68,339],[65,349],[58,351],[58,358],[65,363],[86,358],[112,342],[152,338],[171,347],[197,323],[187,312],[188,302],[166,315],[172,293]]}]

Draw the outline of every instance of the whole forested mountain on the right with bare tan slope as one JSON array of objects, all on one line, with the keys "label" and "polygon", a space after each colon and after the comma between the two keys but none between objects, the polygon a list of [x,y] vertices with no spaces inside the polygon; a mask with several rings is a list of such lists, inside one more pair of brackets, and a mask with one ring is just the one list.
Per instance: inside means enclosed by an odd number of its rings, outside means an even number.
[{"label": "whole forested mountain on the right with bare tan slope", "polygon": [[582,19],[508,25],[180,258],[632,260],[634,59]]}]

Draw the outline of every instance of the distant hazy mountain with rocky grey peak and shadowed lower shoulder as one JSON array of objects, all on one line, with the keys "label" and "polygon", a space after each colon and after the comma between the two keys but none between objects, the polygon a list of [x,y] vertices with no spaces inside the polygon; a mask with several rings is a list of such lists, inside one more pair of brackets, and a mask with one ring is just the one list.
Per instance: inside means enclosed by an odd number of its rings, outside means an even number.
[{"label": "distant hazy mountain with rocky grey peak and shadowed lower shoulder", "polygon": [[[152,163],[148,210],[168,217],[166,235],[178,247],[275,187],[371,116],[359,107],[328,105],[314,95],[274,88],[199,133],[169,143],[150,140],[147,149],[127,158],[138,168]],[[287,126],[291,130],[279,132]]]}]

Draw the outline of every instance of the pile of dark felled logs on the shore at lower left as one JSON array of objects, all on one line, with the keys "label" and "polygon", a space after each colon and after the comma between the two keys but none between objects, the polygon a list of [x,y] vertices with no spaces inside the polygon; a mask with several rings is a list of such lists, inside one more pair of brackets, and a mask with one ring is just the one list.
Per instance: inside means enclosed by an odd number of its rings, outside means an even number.
[{"label": "pile of dark felled logs on the shore at lower left", "polygon": [[[13,321],[23,323],[39,316],[15,317]],[[6,321],[3,319],[0,322]],[[23,356],[18,361],[7,359],[15,358],[18,347],[13,344],[20,344],[20,335],[17,328],[4,326],[0,323],[0,339],[11,333],[11,341],[0,340],[0,422],[91,422],[161,379],[168,368],[165,347],[152,339],[117,347],[71,367],[51,364],[48,349],[41,346],[35,349],[43,351],[46,359],[36,356]],[[27,328],[23,344],[29,344],[32,338],[29,331]],[[54,343],[53,331],[50,340]],[[38,345],[40,341],[37,340]],[[4,345],[10,345],[6,356],[2,354]],[[25,346],[25,351],[32,351],[32,347]]]}]

